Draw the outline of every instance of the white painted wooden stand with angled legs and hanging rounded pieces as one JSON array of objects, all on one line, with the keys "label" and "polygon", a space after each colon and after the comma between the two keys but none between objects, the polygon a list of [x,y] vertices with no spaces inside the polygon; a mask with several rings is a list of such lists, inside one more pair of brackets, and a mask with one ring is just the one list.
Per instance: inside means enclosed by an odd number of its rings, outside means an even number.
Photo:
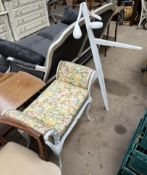
[{"label": "white painted wooden stand with angled legs and hanging rounded pieces", "polygon": [[75,28],[73,31],[74,38],[79,39],[82,36],[81,29],[80,29],[79,24],[78,24],[82,14],[83,14],[84,19],[85,19],[87,34],[88,34],[88,38],[89,38],[89,42],[90,42],[90,46],[91,46],[91,51],[93,54],[93,60],[94,60],[95,67],[96,67],[97,77],[99,80],[104,105],[105,105],[106,110],[108,110],[109,104],[108,104],[106,86],[105,86],[105,81],[104,81],[104,74],[103,74],[103,69],[102,69],[100,55],[99,55],[99,48],[97,46],[105,45],[105,46],[111,46],[111,47],[115,46],[115,47],[128,48],[128,49],[138,49],[138,50],[141,50],[142,48],[138,47],[138,46],[129,45],[129,44],[117,43],[117,42],[112,42],[112,41],[108,41],[108,40],[95,38],[92,29],[93,28],[101,28],[102,22],[92,23],[90,21],[89,15],[93,16],[96,19],[101,19],[101,17],[99,17],[98,15],[93,15],[93,12],[89,12],[86,2],[83,2],[80,4],[79,16],[77,18]]}]

